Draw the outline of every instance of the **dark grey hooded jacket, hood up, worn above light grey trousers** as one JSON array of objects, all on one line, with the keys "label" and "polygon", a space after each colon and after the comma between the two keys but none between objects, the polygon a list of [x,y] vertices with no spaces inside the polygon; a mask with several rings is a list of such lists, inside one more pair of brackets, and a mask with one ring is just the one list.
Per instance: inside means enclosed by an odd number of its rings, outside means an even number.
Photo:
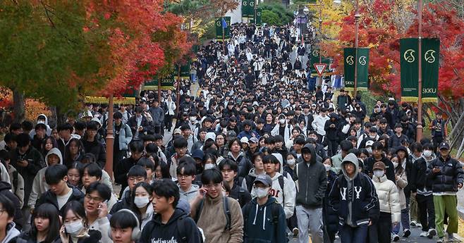
[{"label": "dark grey hooded jacket, hood up, worn above light grey trousers", "polygon": [[[310,161],[305,161],[303,151],[310,151]],[[298,158],[293,174],[293,180],[298,188],[296,193],[296,205],[305,208],[322,208],[322,199],[325,197],[327,187],[327,175],[322,163],[317,163],[315,147],[306,144],[302,151],[302,156]],[[298,182],[297,182],[298,181]]]}]

